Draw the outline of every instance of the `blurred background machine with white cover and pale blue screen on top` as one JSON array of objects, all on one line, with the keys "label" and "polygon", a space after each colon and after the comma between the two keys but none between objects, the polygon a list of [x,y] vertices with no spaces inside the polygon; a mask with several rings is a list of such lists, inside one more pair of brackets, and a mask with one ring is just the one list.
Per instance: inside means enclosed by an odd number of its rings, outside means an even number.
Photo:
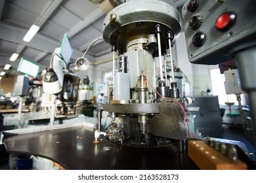
[{"label": "blurred background machine with white cover and pale blue screen on top", "polygon": [[72,116],[76,112],[79,90],[79,76],[70,71],[70,57],[73,49],[67,35],[62,46],[54,50],[50,66],[43,72],[43,112],[54,116]]}]

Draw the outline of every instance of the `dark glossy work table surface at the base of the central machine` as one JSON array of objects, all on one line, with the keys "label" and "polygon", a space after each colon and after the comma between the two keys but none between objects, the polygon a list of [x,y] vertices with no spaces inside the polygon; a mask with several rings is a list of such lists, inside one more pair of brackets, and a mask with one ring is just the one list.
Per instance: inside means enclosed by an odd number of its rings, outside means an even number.
[{"label": "dark glossy work table surface at the base of the central machine", "polygon": [[178,152],[175,146],[122,146],[104,136],[100,136],[102,140],[99,144],[93,144],[93,128],[84,125],[24,134],[5,131],[4,134],[3,143],[7,152],[51,159],[64,169],[198,169],[188,153]]}]

